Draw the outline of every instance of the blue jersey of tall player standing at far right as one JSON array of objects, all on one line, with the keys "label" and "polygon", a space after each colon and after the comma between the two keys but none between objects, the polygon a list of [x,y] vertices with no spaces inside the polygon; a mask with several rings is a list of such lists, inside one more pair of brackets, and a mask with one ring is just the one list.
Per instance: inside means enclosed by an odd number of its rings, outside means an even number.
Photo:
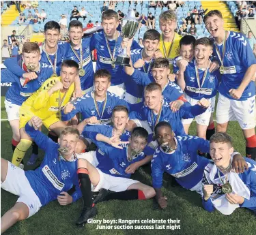
[{"label": "blue jersey of tall player standing at far right", "polygon": [[[217,45],[218,51],[223,59],[223,44]],[[219,93],[229,99],[234,99],[229,95],[230,89],[238,89],[240,86],[246,70],[248,67],[256,63],[255,56],[251,50],[248,39],[241,33],[229,31],[225,44],[225,55],[223,65],[225,67],[225,74],[222,75],[221,84],[218,88]],[[214,46],[214,55],[218,56],[216,52],[216,44]],[[221,63],[220,58],[218,61]],[[236,100],[246,100],[255,95],[255,84],[251,81],[242,97]]]}]

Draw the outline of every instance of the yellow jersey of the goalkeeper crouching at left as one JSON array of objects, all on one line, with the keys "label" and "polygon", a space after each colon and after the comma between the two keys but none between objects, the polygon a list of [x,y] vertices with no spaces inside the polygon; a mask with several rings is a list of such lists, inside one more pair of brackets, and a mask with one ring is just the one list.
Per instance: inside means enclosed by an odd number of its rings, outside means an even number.
[{"label": "yellow jersey of the goalkeeper crouching at left", "polygon": [[[35,91],[29,99],[27,99],[21,106],[23,112],[27,112],[29,116],[33,114],[33,116],[38,116],[40,119],[48,119],[48,117],[53,114],[59,114],[60,110],[63,106],[65,106],[70,98],[72,97],[72,93],[74,92],[74,83],[72,83],[66,91],[66,93],[61,93],[61,91],[55,91],[51,96],[48,95],[48,90],[53,87],[53,84],[59,80],[61,81],[61,77],[52,77],[48,78],[38,89]],[[27,116],[27,115],[26,115]],[[22,119],[22,114],[20,116]]]}]

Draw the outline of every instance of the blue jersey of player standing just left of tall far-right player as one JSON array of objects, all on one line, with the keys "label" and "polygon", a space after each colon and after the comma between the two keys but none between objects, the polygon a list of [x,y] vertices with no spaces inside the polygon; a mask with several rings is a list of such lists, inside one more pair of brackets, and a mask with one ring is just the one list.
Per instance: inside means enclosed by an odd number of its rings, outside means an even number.
[{"label": "blue jersey of player standing just left of tall far-right player", "polygon": [[218,70],[210,73],[209,70],[205,75],[205,70],[197,69],[199,74],[199,81],[197,81],[195,63],[189,63],[184,72],[184,80],[186,82],[185,93],[193,98],[200,100],[201,98],[212,98],[216,95],[218,90],[218,84],[221,78],[221,74]]}]

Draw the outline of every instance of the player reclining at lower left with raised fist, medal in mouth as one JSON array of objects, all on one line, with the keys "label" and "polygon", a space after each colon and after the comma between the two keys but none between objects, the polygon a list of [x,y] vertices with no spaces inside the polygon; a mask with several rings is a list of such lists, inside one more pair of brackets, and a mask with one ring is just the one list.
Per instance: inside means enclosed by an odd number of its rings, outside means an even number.
[{"label": "player reclining at lower left with raised fist, medal in mouth", "polygon": [[[41,206],[53,200],[65,206],[81,198],[74,154],[79,131],[66,127],[61,131],[57,144],[38,130],[41,126],[42,120],[38,116],[33,116],[25,125],[26,133],[45,152],[38,169],[25,172],[1,158],[1,188],[19,196],[16,204],[1,217],[1,233],[14,223],[31,217]],[[68,174],[63,176],[63,172]],[[73,185],[76,191],[69,195],[67,191]]]}]

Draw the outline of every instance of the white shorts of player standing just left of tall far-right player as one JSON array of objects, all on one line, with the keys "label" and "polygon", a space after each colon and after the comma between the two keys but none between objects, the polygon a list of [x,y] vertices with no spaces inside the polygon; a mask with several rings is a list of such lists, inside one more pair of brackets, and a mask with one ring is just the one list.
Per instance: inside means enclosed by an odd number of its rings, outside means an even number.
[{"label": "white shorts of player standing just left of tall far-right player", "polygon": [[[193,99],[188,95],[185,95],[186,100],[191,104],[191,106],[195,106],[197,104],[197,102],[199,100],[197,99]],[[215,96],[208,99],[210,101],[210,107],[203,112],[202,114],[198,115],[195,117],[195,121],[197,122],[197,124],[199,125],[206,125],[208,126],[210,123],[210,117],[212,112],[214,112],[214,108],[215,108]],[[188,125],[190,123],[192,123],[193,119],[182,119],[182,124],[184,125]]]}]

